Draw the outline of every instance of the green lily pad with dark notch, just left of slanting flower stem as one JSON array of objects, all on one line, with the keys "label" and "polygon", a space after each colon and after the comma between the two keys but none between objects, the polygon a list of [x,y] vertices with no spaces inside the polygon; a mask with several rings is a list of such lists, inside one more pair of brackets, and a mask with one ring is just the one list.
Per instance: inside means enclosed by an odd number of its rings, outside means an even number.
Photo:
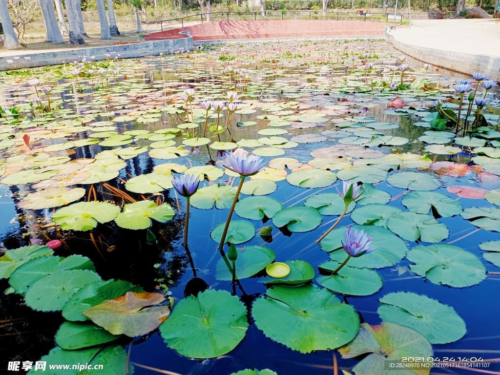
[{"label": "green lily pad with dark notch, just left of slanting flower stem", "polygon": [[321,214],[317,209],[306,206],[283,208],[272,217],[272,223],[281,228],[286,226],[291,232],[306,232],[321,224]]}]

